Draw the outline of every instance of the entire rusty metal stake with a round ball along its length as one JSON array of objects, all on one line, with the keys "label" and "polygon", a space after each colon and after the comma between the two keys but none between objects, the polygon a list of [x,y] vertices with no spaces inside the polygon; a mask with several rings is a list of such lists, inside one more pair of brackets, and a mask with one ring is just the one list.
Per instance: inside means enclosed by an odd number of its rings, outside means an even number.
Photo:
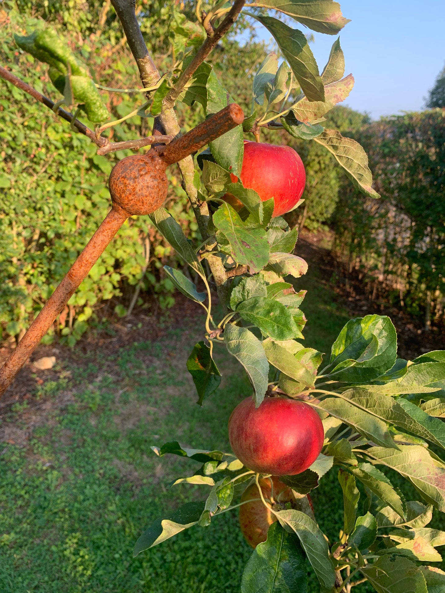
[{"label": "entire rusty metal stake with a round ball along its length", "polygon": [[115,165],[109,179],[112,209],[0,370],[0,397],[126,219],[151,214],[162,205],[168,189],[166,168],[243,120],[243,110],[232,103],[170,144],[155,146],[145,155],[126,157]]}]

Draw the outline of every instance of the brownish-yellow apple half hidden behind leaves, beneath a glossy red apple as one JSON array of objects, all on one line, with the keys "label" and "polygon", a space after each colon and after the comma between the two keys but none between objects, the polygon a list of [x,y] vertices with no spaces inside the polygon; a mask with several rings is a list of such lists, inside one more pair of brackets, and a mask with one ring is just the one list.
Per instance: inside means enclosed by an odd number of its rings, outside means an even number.
[{"label": "brownish-yellow apple half hidden behind leaves, beneath a glossy red apple", "polygon": [[[272,508],[275,511],[282,511],[285,508],[285,503],[295,501],[294,495],[290,487],[280,482],[277,476],[272,476],[271,479],[274,484]],[[262,478],[258,480],[263,496],[269,504],[271,503],[272,494],[271,479]],[[256,548],[259,543],[266,541],[269,527],[277,519],[274,513],[263,504],[256,484],[250,484],[244,490],[241,502],[245,500],[252,500],[252,502],[240,506],[241,532],[247,543]]]}]

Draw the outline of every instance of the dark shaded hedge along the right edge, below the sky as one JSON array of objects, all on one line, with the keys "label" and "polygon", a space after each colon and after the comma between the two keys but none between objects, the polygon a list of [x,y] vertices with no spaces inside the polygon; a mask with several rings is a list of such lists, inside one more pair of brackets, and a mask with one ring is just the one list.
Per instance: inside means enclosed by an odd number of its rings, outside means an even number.
[{"label": "dark shaded hedge along the right edge, below the sky", "polygon": [[[345,187],[336,213],[339,251],[360,262],[417,313],[430,292],[443,317],[445,295],[445,127],[441,110],[383,119],[356,135],[370,155],[382,200]],[[428,316],[427,312],[427,316]]]}]

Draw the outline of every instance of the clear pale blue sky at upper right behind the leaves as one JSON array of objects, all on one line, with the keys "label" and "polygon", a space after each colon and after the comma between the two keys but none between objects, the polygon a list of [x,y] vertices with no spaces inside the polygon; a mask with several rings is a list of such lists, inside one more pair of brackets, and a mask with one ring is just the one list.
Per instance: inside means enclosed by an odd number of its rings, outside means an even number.
[{"label": "clear pale blue sky at upper right behind the leaves", "polygon": [[[373,119],[422,109],[445,62],[445,0],[339,0],[351,19],[340,33],[355,86],[345,105]],[[295,21],[295,28],[310,33]],[[258,23],[259,39],[270,33]],[[314,33],[320,72],[335,36]]]}]

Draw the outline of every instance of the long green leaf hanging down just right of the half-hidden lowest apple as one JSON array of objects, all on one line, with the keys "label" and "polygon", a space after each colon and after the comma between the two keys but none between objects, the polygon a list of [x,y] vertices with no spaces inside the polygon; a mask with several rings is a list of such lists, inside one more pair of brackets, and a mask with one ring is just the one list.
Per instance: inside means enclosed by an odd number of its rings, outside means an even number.
[{"label": "long green leaf hanging down just right of the half-hidden lowest apple", "polygon": [[276,516],[285,530],[291,530],[298,535],[320,585],[330,591],[335,582],[335,571],[329,558],[328,543],[316,522],[305,513],[294,509],[278,511]]}]

